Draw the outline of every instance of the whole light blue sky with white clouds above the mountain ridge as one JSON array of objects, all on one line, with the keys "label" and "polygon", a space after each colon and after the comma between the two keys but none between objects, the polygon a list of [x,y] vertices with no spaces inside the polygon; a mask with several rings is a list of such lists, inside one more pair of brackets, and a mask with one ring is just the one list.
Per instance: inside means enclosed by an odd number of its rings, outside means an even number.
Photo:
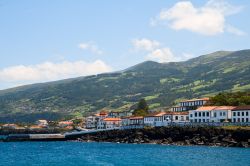
[{"label": "whole light blue sky with white clouds above the mountain ridge", "polygon": [[0,0],[0,89],[250,48],[249,0]]}]

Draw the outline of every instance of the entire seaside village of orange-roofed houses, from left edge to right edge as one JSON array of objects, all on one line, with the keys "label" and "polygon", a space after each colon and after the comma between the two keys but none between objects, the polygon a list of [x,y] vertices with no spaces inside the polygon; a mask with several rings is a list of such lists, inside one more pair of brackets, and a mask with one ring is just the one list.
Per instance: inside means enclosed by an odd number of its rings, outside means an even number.
[{"label": "entire seaside village of orange-roofed houses, from left edge to right edge", "polygon": [[176,106],[135,116],[132,111],[100,111],[83,119],[51,122],[44,119],[30,126],[3,124],[0,129],[39,131],[56,128],[61,132],[136,129],[170,125],[249,126],[250,106],[209,106],[209,98],[184,100]]}]

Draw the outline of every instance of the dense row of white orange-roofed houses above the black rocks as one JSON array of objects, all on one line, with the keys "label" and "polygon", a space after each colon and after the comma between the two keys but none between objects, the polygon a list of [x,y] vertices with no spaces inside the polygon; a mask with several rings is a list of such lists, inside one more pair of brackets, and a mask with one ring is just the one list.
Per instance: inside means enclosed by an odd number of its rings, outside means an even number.
[{"label": "dense row of white orange-roofed houses above the black rocks", "polygon": [[86,118],[87,129],[142,128],[170,124],[247,123],[250,106],[207,106],[209,98],[181,101],[170,110],[133,116],[132,112],[101,111]]}]

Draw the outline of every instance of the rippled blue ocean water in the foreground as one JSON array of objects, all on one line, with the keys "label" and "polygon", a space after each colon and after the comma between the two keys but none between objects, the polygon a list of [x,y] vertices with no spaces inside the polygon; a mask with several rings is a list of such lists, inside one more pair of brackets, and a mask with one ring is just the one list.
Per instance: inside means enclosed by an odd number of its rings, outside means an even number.
[{"label": "rippled blue ocean water in the foreground", "polygon": [[250,149],[82,142],[0,142],[0,165],[248,166]]}]

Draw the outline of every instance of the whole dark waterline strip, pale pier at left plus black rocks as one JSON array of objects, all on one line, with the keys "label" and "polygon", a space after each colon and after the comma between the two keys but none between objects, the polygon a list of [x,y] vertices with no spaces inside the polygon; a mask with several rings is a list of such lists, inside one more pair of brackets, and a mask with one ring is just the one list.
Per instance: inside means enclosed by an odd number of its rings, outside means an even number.
[{"label": "whole dark waterline strip, pale pier at left plus black rocks", "polygon": [[191,126],[145,127],[142,129],[116,129],[77,135],[59,133],[10,134],[7,139],[0,141],[77,141],[249,148],[250,129]]}]

